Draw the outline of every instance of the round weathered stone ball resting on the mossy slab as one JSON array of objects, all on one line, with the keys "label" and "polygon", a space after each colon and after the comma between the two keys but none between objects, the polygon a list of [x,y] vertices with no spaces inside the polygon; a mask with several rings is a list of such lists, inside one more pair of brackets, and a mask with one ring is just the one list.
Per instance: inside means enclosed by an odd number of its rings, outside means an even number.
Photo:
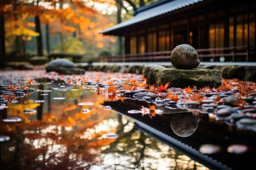
[{"label": "round weathered stone ball resting on the mossy slab", "polygon": [[198,52],[193,46],[181,44],[175,47],[171,53],[171,63],[178,69],[192,69],[200,64]]}]

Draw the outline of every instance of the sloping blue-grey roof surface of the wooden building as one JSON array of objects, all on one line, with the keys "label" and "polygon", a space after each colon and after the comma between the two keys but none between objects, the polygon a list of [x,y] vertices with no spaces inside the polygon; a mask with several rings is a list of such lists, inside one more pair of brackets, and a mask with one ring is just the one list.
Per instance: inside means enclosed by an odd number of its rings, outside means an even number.
[{"label": "sloping blue-grey roof surface of the wooden building", "polygon": [[[117,35],[116,33],[113,34],[112,31],[116,31],[127,26],[135,25],[140,22],[144,22],[146,20],[150,20],[158,16],[164,15],[166,13],[177,11],[179,9],[184,9],[186,7],[190,7],[191,5],[198,4],[203,1],[206,1],[206,0],[186,0],[183,4],[180,4],[180,0],[160,0],[158,2],[154,2],[153,4],[136,9],[135,16],[133,18],[126,20],[124,22],[121,22],[108,29],[99,31],[99,33],[103,33],[105,35]],[[161,6],[164,4],[166,8],[161,9],[162,11],[158,11],[157,8],[161,8]],[[155,11],[154,11],[154,8],[155,8]],[[147,13],[148,10],[149,11],[151,10],[152,12],[150,11],[150,13]],[[145,13],[146,13],[146,16],[144,16]]]}]

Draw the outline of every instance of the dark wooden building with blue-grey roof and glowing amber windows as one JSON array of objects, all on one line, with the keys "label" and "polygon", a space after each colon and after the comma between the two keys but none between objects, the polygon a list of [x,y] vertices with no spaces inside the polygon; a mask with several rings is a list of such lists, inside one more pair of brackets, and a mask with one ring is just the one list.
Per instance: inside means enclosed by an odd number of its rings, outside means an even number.
[{"label": "dark wooden building with blue-grey roof and glowing amber windows", "polygon": [[125,38],[126,61],[169,59],[184,43],[198,49],[201,60],[256,61],[255,11],[256,2],[247,0],[159,0],[101,33]]}]

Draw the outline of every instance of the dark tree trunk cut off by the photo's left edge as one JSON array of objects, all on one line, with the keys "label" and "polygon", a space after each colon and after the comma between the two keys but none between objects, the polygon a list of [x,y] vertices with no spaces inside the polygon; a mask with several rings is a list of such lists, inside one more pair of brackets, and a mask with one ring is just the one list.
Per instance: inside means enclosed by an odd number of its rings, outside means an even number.
[{"label": "dark tree trunk cut off by the photo's left edge", "polygon": [[5,54],[5,35],[4,35],[4,15],[0,15],[0,66],[4,68],[6,66],[6,54]]}]

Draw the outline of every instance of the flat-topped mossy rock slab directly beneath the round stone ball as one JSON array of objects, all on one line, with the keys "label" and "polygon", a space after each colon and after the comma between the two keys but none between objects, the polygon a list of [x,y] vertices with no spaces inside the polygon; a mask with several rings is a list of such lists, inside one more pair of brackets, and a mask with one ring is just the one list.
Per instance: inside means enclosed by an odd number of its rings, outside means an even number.
[{"label": "flat-topped mossy rock slab directly beneath the round stone ball", "polygon": [[160,86],[170,82],[171,87],[218,88],[221,85],[221,72],[210,69],[181,70],[175,68],[154,68],[147,75],[147,84]]}]

